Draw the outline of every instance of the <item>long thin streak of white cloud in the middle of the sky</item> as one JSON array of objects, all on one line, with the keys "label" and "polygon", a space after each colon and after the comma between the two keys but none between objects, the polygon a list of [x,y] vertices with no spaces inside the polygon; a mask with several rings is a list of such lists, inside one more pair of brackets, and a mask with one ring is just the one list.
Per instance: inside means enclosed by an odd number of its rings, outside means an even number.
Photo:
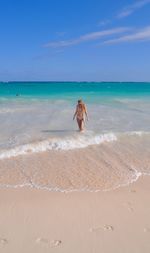
[{"label": "long thin streak of white cloud in the middle of the sky", "polygon": [[97,40],[97,39],[104,37],[104,36],[123,33],[128,30],[129,30],[129,28],[127,28],[127,27],[119,27],[119,28],[114,28],[114,29],[109,29],[109,30],[88,33],[88,34],[82,35],[82,36],[80,36],[76,39],[72,39],[72,40],[52,41],[52,42],[45,44],[44,47],[62,48],[62,47],[73,46],[73,45],[77,45],[77,44],[80,44],[83,42]]}]

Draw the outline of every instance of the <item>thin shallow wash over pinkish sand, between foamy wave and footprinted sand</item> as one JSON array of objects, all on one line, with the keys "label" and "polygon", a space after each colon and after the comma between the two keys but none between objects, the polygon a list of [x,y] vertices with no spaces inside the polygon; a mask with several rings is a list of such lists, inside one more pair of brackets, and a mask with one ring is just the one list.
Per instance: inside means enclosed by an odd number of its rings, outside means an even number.
[{"label": "thin shallow wash over pinkish sand, between foamy wave and footprinted sand", "polygon": [[131,136],[83,149],[51,150],[0,160],[0,186],[53,191],[115,189],[150,174],[150,139]]}]

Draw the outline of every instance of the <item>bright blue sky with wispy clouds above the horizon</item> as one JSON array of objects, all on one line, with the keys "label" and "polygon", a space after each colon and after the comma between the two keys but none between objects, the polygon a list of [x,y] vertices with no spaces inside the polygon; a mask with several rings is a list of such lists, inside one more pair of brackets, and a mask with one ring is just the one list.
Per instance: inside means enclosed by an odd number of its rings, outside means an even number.
[{"label": "bright blue sky with wispy clouds above the horizon", "polygon": [[150,81],[150,0],[1,0],[0,80]]}]

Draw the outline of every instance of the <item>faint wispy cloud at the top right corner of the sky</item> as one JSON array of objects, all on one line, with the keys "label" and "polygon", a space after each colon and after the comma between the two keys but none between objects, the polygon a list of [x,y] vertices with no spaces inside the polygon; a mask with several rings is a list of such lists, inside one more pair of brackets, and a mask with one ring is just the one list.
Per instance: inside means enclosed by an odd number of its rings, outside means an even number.
[{"label": "faint wispy cloud at the top right corner of the sky", "polygon": [[127,16],[131,15],[133,12],[135,12],[136,10],[142,8],[143,6],[145,6],[146,4],[149,4],[149,3],[150,3],[150,0],[137,1],[131,5],[128,5],[125,8],[123,8],[123,10],[120,11],[120,13],[116,17],[117,18],[127,17]]}]

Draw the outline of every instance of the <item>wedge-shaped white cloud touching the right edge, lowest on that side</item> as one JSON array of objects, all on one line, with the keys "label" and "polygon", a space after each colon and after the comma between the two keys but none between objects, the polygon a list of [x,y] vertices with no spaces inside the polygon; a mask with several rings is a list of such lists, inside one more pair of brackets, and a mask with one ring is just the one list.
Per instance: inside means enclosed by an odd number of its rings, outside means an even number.
[{"label": "wedge-shaped white cloud touching the right edge, lowest on that side", "polygon": [[122,42],[148,41],[148,40],[150,40],[150,26],[145,27],[132,34],[119,37],[117,39],[104,41],[103,44],[117,44]]}]

